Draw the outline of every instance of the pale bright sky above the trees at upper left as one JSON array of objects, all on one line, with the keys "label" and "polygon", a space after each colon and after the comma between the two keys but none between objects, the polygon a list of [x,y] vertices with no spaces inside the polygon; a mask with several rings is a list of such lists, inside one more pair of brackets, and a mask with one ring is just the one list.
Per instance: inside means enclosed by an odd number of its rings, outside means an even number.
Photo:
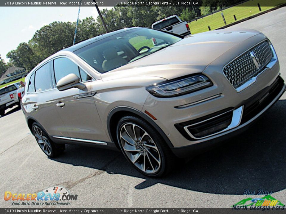
[{"label": "pale bright sky above the trees at upper left", "polygon": [[[103,8],[112,7],[99,7]],[[8,62],[6,54],[22,42],[28,42],[44,25],[54,21],[77,21],[78,7],[0,7],[0,54]],[[80,8],[80,19],[98,16],[92,7]]]}]

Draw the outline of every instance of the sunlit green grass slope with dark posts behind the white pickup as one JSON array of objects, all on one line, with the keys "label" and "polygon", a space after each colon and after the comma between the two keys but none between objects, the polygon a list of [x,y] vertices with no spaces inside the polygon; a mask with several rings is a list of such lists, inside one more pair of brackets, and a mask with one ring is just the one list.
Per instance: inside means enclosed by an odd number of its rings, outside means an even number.
[{"label": "sunlit green grass slope with dark posts behind the white pickup", "polygon": [[[223,15],[226,19],[226,24],[230,24],[235,22],[234,21],[234,17],[233,15],[236,16],[237,21],[247,18],[251,15],[255,15],[257,13],[259,13],[259,8],[257,7],[250,7],[247,5],[251,4],[251,5],[256,5],[257,3],[259,3],[260,5],[266,5],[267,2],[269,2],[270,0],[251,0],[249,2],[245,2],[242,5],[243,6],[236,6],[236,7],[232,7],[232,8],[228,8],[226,10],[223,10]],[[282,4],[285,2],[285,0],[277,0],[277,5]],[[269,3],[268,3],[269,4]],[[265,10],[269,10],[273,7],[269,6],[269,7],[261,7],[262,11]],[[262,12],[261,11],[261,12]],[[224,22],[223,22],[223,18],[220,14],[221,12],[217,12],[214,13],[213,15],[209,15],[206,16],[204,18],[200,18],[197,21],[192,21],[189,23],[190,26],[190,30],[192,34],[196,34],[196,33],[201,33],[201,32],[205,32],[205,31],[209,31],[208,26],[210,26],[211,30],[215,30],[217,28],[220,28],[222,26],[224,26]]]}]

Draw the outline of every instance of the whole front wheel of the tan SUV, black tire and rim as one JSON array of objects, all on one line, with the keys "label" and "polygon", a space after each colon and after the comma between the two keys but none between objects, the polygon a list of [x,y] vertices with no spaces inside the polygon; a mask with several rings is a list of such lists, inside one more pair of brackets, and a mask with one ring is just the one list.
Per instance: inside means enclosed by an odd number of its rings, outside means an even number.
[{"label": "whole front wheel of the tan SUV, black tire and rim", "polygon": [[175,165],[177,158],[162,136],[139,117],[122,117],[117,124],[116,136],[125,158],[144,175],[161,177]]}]

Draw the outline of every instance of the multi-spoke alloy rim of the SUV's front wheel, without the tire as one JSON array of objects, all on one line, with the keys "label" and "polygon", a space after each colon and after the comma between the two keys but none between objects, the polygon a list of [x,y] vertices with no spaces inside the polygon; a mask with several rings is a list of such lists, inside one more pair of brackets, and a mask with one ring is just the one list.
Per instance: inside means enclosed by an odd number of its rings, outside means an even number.
[{"label": "multi-spoke alloy rim of the SUV's front wheel, without the tire", "polygon": [[147,174],[156,173],[161,155],[151,136],[134,123],[125,123],[119,131],[120,143],[129,160]]}]

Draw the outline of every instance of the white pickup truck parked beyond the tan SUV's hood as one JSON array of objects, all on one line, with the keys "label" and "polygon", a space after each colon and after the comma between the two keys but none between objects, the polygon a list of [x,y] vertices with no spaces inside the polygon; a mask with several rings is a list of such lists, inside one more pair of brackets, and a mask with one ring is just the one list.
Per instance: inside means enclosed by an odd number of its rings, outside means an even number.
[{"label": "white pickup truck parked beyond the tan SUV's hood", "polygon": [[152,24],[152,28],[186,36],[191,34],[189,24],[172,15]]}]

